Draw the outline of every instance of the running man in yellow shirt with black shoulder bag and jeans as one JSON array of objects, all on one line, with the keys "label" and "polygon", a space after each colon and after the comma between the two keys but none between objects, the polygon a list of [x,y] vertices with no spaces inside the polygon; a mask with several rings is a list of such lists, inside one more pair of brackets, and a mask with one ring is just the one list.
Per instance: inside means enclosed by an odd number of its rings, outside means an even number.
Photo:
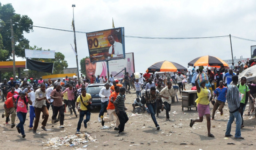
[{"label": "running man in yellow shirt with black shoulder bag and jeans", "polygon": [[[77,108],[78,112],[79,112],[79,121],[77,124],[77,133],[76,134],[80,134],[80,129],[81,129],[81,124],[82,121],[84,123],[85,128],[87,128],[87,122],[90,121],[90,116],[91,116],[91,112],[88,111],[87,107],[89,105],[89,103],[91,102],[91,95],[86,93],[86,89],[85,88],[81,88],[81,92],[82,95],[80,95],[77,98],[77,103],[75,104],[75,107]],[[81,99],[82,98],[82,99]],[[80,104],[80,108],[78,107],[79,102]],[[83,120],[83,117],[86,115],[86,119]]]}]

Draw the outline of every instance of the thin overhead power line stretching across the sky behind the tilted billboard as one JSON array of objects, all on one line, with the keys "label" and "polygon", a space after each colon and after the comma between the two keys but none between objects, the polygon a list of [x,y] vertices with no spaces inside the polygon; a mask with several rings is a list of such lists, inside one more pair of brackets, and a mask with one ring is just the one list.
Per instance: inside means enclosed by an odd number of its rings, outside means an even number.
[{"label": "thin overhead power line stretching across the sky behind the tilted billboard", "polygon": [[[15,23],[15,24],[19,24],[19,23]],[[45,28],[45,29],[52,29],[52,30],[66,31],[66,32],[74,32],[73,30],[64,30],[64,29],[48,28],[48,27],[33,26],[33,25],[30,25],[30,26],[38,27],[38,28]],[[75,31],[75,32],[76,33],[88,33],[88,32],[81,32],[81,31]],[[127,36],[127,35],[125,35],[125,37],[130,37],[130,38],[146,38],[146,39],[204,39],[204,38],[226,38],[226,37],[229,37],[229,35],[225,35],[225,36],[209,36],[209,37],[146,37],[146,36]],[[241,38],[241,37],[237,37],[237,36],[231,36],[231,37],[237,38],[237,39],[246,40],[246,41],[256,42],[256,40],[253,40],[253,39]]]}]

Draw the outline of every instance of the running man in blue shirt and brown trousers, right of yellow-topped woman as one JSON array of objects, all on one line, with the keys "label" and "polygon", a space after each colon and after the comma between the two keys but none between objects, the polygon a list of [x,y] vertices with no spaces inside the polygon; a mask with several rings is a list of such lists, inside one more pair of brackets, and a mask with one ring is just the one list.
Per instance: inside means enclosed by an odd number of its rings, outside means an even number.
[{"label": "running man in blue shirt and brown trousers, right of yellow-topped woman", "polygon": [[[232,79],[232,78],[231,78]],[[223,80],[219,81],[219,87],[217,87],[214,91],[214,96],[217,96],[216,103],[213,106],[213,116],[211,117],[211,120],[214,120],[214,115],[216,110],[219,107],[219,112],[221,112],[221,116],[223,115],[222,108],[224,107],[224,104],[226,102],[226,94],[227,94],[227,88],[223,86]]]}]

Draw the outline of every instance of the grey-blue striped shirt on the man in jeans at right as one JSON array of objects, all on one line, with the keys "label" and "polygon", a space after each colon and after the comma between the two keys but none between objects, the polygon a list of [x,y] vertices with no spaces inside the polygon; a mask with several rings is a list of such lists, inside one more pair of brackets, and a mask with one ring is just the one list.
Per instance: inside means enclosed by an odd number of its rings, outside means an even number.
[{"label": "grey-blue striped shirt on the man in jeans at right", "polygon": [[240,106],[240,94],[239,89],[235,85],[229,85],[227,88],[227,96],[226,96],[227,104],[229,106],[229,112],[234,113],[238,111]]}]

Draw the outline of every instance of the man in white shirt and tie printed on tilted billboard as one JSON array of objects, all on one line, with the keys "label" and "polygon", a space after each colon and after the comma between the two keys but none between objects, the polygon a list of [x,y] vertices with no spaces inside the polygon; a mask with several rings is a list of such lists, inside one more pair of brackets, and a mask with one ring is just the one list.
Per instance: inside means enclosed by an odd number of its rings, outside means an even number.
[{"label": "man in white shirt and tie printed on tilted billboard", "polygon": [[112,46],[109,47],[109,53],[105,53],[106,60],[123,57],[123,44],[120,42],[116,42],[112,35],[109,35],[107,37],[107,40]]}]

